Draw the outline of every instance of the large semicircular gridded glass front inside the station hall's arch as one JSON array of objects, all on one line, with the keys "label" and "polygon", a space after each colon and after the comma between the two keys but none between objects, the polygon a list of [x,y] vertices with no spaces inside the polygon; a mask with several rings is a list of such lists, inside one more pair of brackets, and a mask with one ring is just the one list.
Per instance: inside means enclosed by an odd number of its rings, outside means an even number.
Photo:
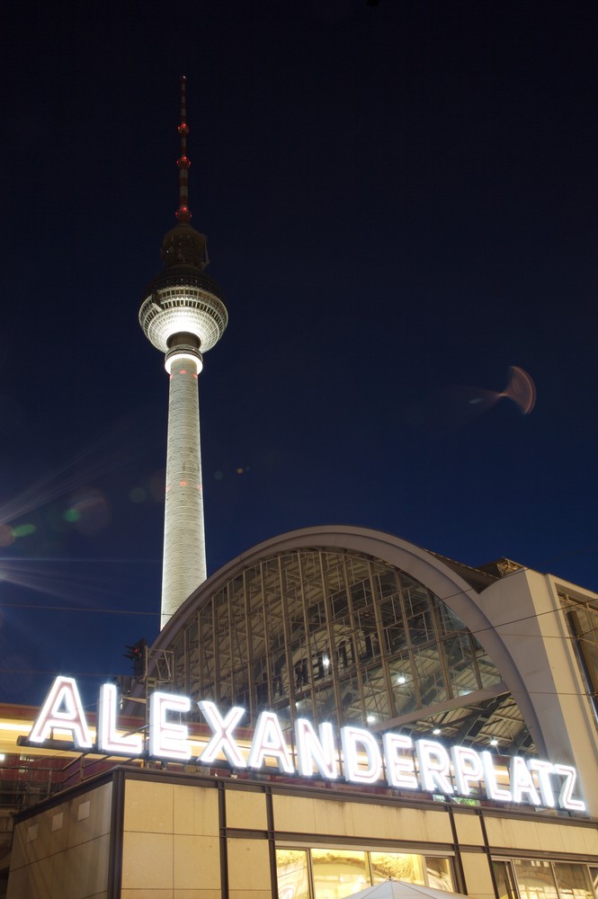
[{"label": "large semicircular gridded glass front inside the station hall's arch", "polygon": [[336,547],[262,557],[204,595],[170,648],[174,690],[192,708],[198,699],[242,706],[245,726],[272,709],[285,730],[299,717],[370,729],[388,722],[534,752],[477,637],[423,583],[379,558]]}]

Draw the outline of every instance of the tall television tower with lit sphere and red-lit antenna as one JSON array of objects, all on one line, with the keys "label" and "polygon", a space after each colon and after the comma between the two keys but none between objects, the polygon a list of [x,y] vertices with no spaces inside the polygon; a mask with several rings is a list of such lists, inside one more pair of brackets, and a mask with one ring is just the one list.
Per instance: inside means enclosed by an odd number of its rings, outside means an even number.
[{"label": "tall television tower with lit sphere and red-lit antenna", "polygon": [[190,224],[186,78],[181,77],[181,156],[176,225],[162,241],[164,270],[147,285],[139,324],[165,353],[170,375],[161,627],[207,577],[201,484],[197,376],[224,333],[227,307],[218,283],[203,270],[206,237]]}]

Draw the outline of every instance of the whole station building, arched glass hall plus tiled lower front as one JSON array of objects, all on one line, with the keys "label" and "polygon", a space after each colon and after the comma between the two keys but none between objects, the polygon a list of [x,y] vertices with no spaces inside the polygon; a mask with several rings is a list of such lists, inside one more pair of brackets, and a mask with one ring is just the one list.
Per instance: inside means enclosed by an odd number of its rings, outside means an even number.
[{"label": "whole station building, arched glass hall plus tiled lower front", "polygon": [[[172,660],[161,693],[190,700],[171,716],[189,758],[106,758],[23,810],[9,899],[336,899],[389,877],[595,899],[597,601],[507,559],[469,567],[373,530],[254,547],[151,647]],[[220,721],[243,708],[238,745],[251,759],[261,734],[260,763],[208,758],[216,731],[198,702]],[[327,725],[334,776],[322,758],[301,767],[300,734],[322,750]]]}]

